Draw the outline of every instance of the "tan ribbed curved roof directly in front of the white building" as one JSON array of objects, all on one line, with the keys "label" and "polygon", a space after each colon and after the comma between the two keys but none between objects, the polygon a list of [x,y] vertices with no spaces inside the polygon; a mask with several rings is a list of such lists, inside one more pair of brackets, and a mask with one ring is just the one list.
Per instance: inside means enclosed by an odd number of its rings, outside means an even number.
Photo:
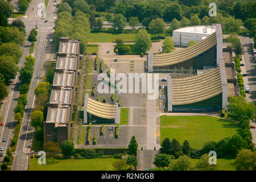
[{"label": "tan ribbed curved roof directly in front of the white building", "polygon": [[172,65],[182,63],[192,59],[193,57],[199,56],[201,53],[208,51],[210,48],[217,44],[216,32],[208,36],[208,38],[201,40],[201,42],[185,48],[179,51],[170,53],[154,55],[154,67],[162,67],[166,65]]}]

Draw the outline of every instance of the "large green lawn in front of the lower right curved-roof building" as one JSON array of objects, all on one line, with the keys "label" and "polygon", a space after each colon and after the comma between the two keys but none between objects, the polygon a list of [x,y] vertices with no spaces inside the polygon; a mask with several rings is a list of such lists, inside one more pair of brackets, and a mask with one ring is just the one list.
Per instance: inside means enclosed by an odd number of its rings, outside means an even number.
[{"label": "large green lawn in front of the lower right curved-roof building", "polygon": [[161,142],[164,138],[177,139],[180,144],[188,140],[193,148],[204,143],[231,137],[240,130],[238,123],[209,116],[167,116],[160,117]]}]

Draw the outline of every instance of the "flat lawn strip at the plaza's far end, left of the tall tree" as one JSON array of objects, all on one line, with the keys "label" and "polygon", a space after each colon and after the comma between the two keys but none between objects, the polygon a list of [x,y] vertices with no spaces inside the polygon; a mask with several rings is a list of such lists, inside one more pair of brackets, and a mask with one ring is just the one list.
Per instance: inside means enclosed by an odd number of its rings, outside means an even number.
[{"label": "flat lawn strip at the plaza's far end, left of the tall tree", "polygon": [[115,42],[115,39],[122,39],[123,42],[134,42],[136,34],[109,34],[109,33],[90,33],[90,42]]}]

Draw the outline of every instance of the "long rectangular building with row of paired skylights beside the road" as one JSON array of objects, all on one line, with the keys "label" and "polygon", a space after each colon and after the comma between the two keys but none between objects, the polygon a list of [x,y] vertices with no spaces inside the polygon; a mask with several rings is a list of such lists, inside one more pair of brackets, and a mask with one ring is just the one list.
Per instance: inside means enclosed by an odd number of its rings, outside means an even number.
[{"label": "long rectangular building with row of paired skylights beside the road", "polygon": [[60,38],[47,118],[43,124],[44,142],[61,144],[69,138],[79,61],[80,40]]}]

